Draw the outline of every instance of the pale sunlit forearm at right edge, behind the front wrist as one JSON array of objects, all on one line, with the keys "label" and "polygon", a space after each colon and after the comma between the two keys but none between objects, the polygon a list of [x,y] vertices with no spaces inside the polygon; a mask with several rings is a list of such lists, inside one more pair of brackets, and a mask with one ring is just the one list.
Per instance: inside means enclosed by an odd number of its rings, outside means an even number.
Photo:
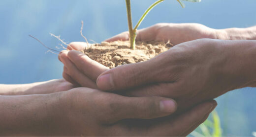
[{"label": "pale sunlit forearm at right edge, behind the front wrist", "polygon": [[226,28],[216,30],[221,40],[256,40],[256,26],[248,28]]}]

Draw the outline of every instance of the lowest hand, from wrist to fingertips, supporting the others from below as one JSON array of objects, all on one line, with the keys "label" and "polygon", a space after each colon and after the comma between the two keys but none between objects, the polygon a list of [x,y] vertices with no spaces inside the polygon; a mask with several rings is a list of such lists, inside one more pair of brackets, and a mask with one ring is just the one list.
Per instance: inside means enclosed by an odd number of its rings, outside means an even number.
[{"label": "lowest hand, from wrist to fingertips, supporting the others from below", "polygon": [[[186,136],[216,107],[210,100],[175,117],[176,103],[164,97],[126,97],[89,88],[75,88],[60,98],[64,112],[54,135]],[[62,110],[62,109],[60,109]],[[151,119],[161,117],[160,119]],[[141,119],[141,120],[139,120]],[[142,120],[145,119],[145,120]],[[146,120],[147,119],[147,120]]]}]

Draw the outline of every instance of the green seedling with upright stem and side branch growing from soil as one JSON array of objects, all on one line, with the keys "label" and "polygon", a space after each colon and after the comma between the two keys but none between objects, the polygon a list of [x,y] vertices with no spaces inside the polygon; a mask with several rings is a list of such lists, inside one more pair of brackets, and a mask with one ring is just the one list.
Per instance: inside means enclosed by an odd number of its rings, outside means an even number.
[{"label": "green seedling with upright stem and side branch growing from soil", "polygon": [[[128,17],[128,27],[129,27],[129,35],[130,35],[130,48],[135,49],[135,39],[136,39],[136,31],[141,22],[145,19],[147,14],[159,3],[163,2],[164,0],[157,0],[155,3],[153,3],[141,16],[138,23],[135,25],[134,28],[132,28],[132,19],[131,19],[131,8],[130,8],[130,0],[126,0],[126,8],[127,8],[127,17]],[[177,0],[182,7],[185,7],[185,4],[181,0]],[[185,1],[191,1],[191,2],[200,2],[201,0],[185,0]]]}]

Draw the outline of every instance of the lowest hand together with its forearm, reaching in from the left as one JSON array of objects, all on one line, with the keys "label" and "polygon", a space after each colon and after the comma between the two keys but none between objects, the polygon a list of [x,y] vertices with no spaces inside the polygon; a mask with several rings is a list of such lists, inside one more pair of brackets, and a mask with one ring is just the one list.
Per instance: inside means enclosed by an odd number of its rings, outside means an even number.
[{"label": "lowest hand together with its forearm, reaching in from the left", "polygon": [[89,88],[0,95],[0,136],[187,136],[216,105],[210,100],[184,114],[150,120],[173,113],[173,100]]}]

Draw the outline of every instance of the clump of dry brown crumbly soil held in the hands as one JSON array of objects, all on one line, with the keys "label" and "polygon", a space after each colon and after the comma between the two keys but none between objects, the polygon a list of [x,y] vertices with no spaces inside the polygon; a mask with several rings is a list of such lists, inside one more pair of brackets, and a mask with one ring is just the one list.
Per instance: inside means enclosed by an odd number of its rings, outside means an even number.
[{"label": "clump of dry brown crumbly soil held in the hands", "polygon": [[90,45],[84,53],[106,67],[115,68],[124,64],[147,61],[172,46],[169,42],[139,42],[133,50],[129,48],[128,41],[102,42]]}]

